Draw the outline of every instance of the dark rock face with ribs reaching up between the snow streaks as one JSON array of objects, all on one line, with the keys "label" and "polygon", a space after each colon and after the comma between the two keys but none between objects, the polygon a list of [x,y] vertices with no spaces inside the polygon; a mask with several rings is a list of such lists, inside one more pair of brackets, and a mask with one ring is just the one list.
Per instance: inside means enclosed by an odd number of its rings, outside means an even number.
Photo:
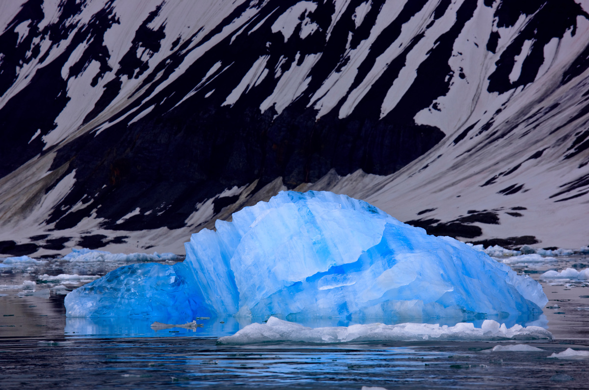
[{"label": "dark rock face with ribs reaching up between the snow streaks", "polygon": [[[352,88],[367,77],[376,58],[399,37],[403,23],[421,11],[426,3],[408,2],[398,17],[392,18],[392,23],[370,47],[365,61],[358,68]],[[33,80],[0,109],[0,136],[7,140],[1,146],[2,155],[6,158],[2,158],[0,163],[0,175],[5,176],[36,154],[47,151],[42,136],[55,130],[54,121],[59,113],[67,104],[74,103],[68,97],[68,80],[80,77],[92,61],[98,62],[99,66],[88,92],[99,97],[84,116],[82,125],[98,115],[106,114],[106,120],[113,122],[133,109],[141,112],[150,106],[153,108],[134,123],[130,123],[133,119],[131,115],[100,134],[87,131],[74,140],[48,148],[57,148],[52,169],[70,162],[63,176],[75,170],[76,177],[75,187],[48,218],[48,223],[57,222],[55,228],[58,230],[74,227],[91,214],[96,204],[103,205],[97,215],[105,219],[104,226],[109,229],[135,230],[158,226],[174,229],[183,226],[186,217],[193,212],[194,204],[214,197],[223,189],[243,186],[256,179],[259,179],[261,187],[282,176],[287,186],[296,187],[300,183],[320,179],[332,168],[340,174],[352,173],[359,168],[368,173],[391,174],[444,137],[438,128],[415,124],[413,116],[448,90],[446,74],[449,69],[439,68],[437,63],[448,59],[452,39],[472,17],[476,2],[470,0],[467,3],[459,10],[460,15],[464,15],[452,26],[449,35],[444,38],[445,43],[438,45],[428,60],[420,65],[418,82],[408,91],[396,112],[379,118],[379,107],[373,101],[383,100],[405,65],[404,56],[422,35],[412,39],[396,60],[398,64],[387,68],[379,84],[370,89],[350,115],[339,118],[337,106],[343,104],[341,101],[332,111],[317,118],[317,111],[308,107],[311,92],[317,91],[330,73],[341,70],[345,65],[350,31],[355,35],[348,49],[355,49],[369,37],[382,4],[373,4],[362,24],[356,27],[352,15],[362,2],[352,1],[340,15],[342,22],[334,25],[327,40],[327,29],[336,9],[329,2],[318,2],[313,11],[291,17],[303,18],[306,15],[318,29],[303,39],[300,37],[303,25],[299,21],[292,35],[286,39],[282,33],[273,32],[272,27],[280,23],[277,21],[279,16],[296,6],[297,2],[270,1],[257,9],[256,23],[267,18],[259,28],[216,42],[176,80],[154,94],[155,88],[163,85],[163,81],[186,61],[191,52],[190,45],[197,42],[193,36],[180,43],[178,37],[170,54],[150,68],[145,58],[163,50],[161,42],[166,38],[166,24],[151,25],[162,12],[163,4],[156,6],[141,22],[131,46],[113,70],[115,64],[112,64],[108,50],[109,44],[111,47],[113,44],[105,42],[105,36],[108,29],[120,24],[115,7],[118,3],[108,2],[100,12],[92,15],[87,25],[76,29],[73,25],[67,26],[67,20],[72,15],[81,14],[82,4],[64,2],[60,6],[58,21],[41,30],[32,29],[27,41],[17,44],[19,35],[14,31],[16,26],[26,21],[36,25],[44,18],[42,2],[28,1],[0,36],[0,47],[6,53],[1,66],[12,71],[3,72],[0,76],[2,92],[6,92],[17,78],[15,64],[22,62],[23,58],[29,62],[35,58],[35,53],[27,57],[29,49],[35,51],[38,48],[38,44],[35,46],[32,43],[35,37],[51,40],[52,47],[60,39],[65,40],[68,34],[73,34],[73,37],[67,49],[40,68]],[[255,4],[246,2],[238,6],[220,25],[201,37],[199,45],[213,41],[221,29]],[[445,4],[447,7],[448,4]],[[441,5],[436,9],[435,17],[439,18],[445,8]],[[462,11],[463,8],[465,11]],[[68,58],[80,45],[85,45],[82,55],[70,64]],[[145,52],[148,54],[141,54]],[[38,50],[36,53],[39,57],[43,55]],[[259,85],[247,91],[246,97],[224,105],[226,98],[260,58],[266,58],[268,70],[284,73],[302,65],[303,59],[309,56],[316,56],[319,60],[307,70],[305,79],[309,80],[309,85],[305,93],[281,108],[280,113],[272,105],[266,110],[259,108],[276,90],[280,80],[276,77],[264,78]],[[213,73],[219,77],[209,80],[206,89],[198,90],[184,100],[199,83],[207,80],[207,72],[217,63],[221,63],[221,67],[230,66],[230,71]],[[64,80],[62,73],[67,69],[68,77]],[[163,76],[157,78],[158,72],[163,72]],[[107,73],[113,74],[112,80],[98,88],[98,81],[104,79]],[[140,95],[123,110],[108,110],[108,105],[121,94],[125,79],[141,80],[145,90],[135,92]],[[210,91],[214,92],[207,96]],[[289,93],[292,92],[284,91],[284,94]],[[277,95],[276,98],[280,100],[283,97]],[[28,115],[33,106],[41,109],[36,110],[35,115]],[[20,131],[14,131],[16,127]],[[34,137],[38,130],[40,134]],[[69,212],[72,205],[91,193],[95,194],[95,202],[91,206]],[[154,210],[162,203],[168,207],[163,214],[153,213],[151,217],[130,218],[115,224],[135,207]]]}]

